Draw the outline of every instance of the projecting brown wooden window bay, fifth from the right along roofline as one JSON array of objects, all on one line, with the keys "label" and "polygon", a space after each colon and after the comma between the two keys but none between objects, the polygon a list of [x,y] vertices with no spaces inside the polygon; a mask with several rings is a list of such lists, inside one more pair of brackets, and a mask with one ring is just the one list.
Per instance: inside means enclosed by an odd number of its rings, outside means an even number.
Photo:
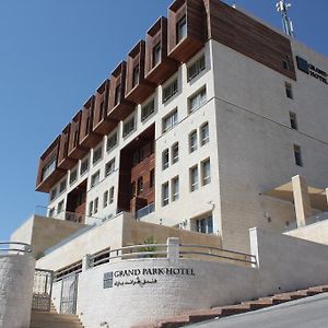
[{"label": "projecting brown wooden window bay, fifth from the right along roofline", "polygon": [[93,131],[106,136],[117,126],[117,120],[110,120],[107,116],[109,106],[110,81],[106,80],[96,91],[93,114]]}]

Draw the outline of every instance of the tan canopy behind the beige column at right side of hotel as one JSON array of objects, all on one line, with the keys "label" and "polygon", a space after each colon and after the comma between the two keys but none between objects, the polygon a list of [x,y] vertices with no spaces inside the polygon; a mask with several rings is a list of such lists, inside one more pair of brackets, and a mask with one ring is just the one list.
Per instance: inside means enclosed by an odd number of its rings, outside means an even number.
[{"label": "tan canopy behind the beige column at right side of hotel", "polygon": [[[289,181],[284,185],[276,187],[269,191],[266,191],[262,195],[293,202],[294,201],[293,184],[292,181]],[[327,198],[326,198],[326,191],[324,189],[308,186],[308,196],[309,196],[311,207],[313,209],[319,211],[327,211]]]}]

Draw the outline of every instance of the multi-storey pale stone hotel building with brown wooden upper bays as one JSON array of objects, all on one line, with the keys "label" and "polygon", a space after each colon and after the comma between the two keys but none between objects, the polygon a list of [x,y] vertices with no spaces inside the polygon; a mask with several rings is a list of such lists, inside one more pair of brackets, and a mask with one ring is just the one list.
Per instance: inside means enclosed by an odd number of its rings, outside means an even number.
[{"label": "multi-storey pale stone hotel building with brown wooden upper bays", "polygon": [[316,187],[307,216],[325,211],[327,71],[243,11],[175,1],[40,156],[47,215],[90,225],[129,212],[246,250],[248,229],[295,223],[293,176]]}]

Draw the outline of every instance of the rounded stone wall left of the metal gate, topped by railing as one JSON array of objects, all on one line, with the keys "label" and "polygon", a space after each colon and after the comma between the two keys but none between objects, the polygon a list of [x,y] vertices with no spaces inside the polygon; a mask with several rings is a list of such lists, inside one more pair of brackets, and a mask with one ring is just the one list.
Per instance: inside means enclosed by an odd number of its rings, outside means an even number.
[{"label": "rounded stone wall left of the metal gate, topped by railing", "polygon": [[28,328],[35,259],[0,255],[0,327]]}]

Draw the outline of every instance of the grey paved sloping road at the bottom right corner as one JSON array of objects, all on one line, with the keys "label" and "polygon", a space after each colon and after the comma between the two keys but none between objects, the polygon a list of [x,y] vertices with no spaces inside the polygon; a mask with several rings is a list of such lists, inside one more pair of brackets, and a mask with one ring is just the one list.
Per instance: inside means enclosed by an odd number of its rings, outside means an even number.
[{"label": "grey paved sloping road at the bottom right corner", "polygon": [[328,328],[328,293],[189,328]]}]

